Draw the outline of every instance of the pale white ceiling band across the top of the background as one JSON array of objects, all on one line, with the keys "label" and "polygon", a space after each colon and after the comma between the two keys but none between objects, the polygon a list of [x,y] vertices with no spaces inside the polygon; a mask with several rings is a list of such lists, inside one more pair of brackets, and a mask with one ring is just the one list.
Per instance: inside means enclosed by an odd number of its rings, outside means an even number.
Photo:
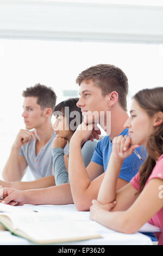
[{"label": "pale white ceiling band across the top of the background", "polygon": [[163,7],[0,1],[0,38],[163,42]]}]

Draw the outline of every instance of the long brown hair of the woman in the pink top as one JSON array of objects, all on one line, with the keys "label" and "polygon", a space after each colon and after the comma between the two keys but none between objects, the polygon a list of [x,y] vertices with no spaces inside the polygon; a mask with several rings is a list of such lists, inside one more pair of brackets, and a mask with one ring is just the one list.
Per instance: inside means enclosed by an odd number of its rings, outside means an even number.
[{"label": "long brown hair of the woman in the pink top", "polygon": [[[149,117],[163,112],[163,87],[140,90],[133,99],[145,109]],[[152,173],[156,160],[163,153],[163,123],[156,126],[155,131],[148,138],[146,150],[148,157],[139,170],[139,193],[143,190],[149,175]]]}]

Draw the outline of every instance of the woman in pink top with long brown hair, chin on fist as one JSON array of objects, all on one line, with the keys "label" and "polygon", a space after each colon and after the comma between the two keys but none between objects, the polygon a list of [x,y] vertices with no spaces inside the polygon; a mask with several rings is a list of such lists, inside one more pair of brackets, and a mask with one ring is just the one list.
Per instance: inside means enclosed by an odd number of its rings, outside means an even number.
[{"label": "woman in pink top with long brown hair, chin on fist", "polygon": [[[91,220],[122,233],[135,233],[149,222],[163,231],[163,87],[143,89],[133,97],[130,117],[124,124],[129,137],[113,140],[108,169],[92,201]],[[148,153],[139,173],[116,192],[122,163],[144,145]],[[131,170],[132,171],[132,170]],[[163,232],[156,233],[163,245]]]}]

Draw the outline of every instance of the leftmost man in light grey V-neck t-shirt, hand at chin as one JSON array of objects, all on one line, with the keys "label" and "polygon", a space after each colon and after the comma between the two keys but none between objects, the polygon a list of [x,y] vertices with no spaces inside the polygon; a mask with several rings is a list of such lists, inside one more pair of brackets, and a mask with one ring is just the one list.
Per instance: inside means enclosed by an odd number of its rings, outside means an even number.
[{"label": "leftmost man in light grey V-neck t-shirt, hand at chin", "polygon": [[[51,142],[55,134],[51,116],[57,96],[52,88],[41,84],[27,88],[22,95],[24,97],[22,117],[26,130],[22,129],[18,132],[12,145],[9,159],[3,170],[4,181],[20,181],[28,166],[35,179],[53,176]],[[51,177],[41,186],[53,185],[55,181],[54,177]],[[39,188],[39,182],[30,184],[30,187],[26,186],[25,182],[24,189],[28,188]]]}]

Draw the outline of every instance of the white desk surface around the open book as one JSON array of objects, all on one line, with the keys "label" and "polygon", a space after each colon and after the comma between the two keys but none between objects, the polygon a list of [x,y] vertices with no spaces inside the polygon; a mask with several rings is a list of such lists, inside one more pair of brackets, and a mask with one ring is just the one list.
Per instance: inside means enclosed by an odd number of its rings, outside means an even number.
[{"label": "white desk surface around the open book", "polygon": [[[152,245],[151,239],[141,233],[123,234],[103,227],[89,219],[89,212],[78,212],[73,204],[70,205],[24,205],[15,206],[37,211],[57,211],[67,213],[67,221],[82,222],[85,227],[96,230],[102,235],[101,239],[91,239],[78,242],[62,243],[62,245]],[[0,229],[0,245],[33,245],[26,239],[11,235],[9,231]],[[152,229],[151,231],[153,231]],[[147,231],[142,229],[142,231]],[[58,244],[61,245],[61,244]]]}]

